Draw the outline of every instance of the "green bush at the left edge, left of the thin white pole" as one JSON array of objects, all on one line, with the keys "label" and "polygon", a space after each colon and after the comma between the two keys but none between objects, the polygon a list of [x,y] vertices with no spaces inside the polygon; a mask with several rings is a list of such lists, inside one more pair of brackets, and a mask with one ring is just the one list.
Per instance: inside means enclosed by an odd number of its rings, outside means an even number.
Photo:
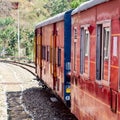
[{"label": "green bush at the left edge, left of the thin white pole", "polygon": [[13,23],[14,20],[10,17],[0,19],[0,49],[1,51],[5,50],[5,53],[9,55],[13,55],[16,44],[16,33],[12,26]]}]

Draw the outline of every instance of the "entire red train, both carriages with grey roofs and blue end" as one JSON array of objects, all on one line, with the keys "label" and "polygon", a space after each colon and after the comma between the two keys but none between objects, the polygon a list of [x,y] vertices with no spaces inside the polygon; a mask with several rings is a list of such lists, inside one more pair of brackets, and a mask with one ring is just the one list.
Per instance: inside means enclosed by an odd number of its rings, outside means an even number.
[{"label": "entire red train, both carriages with grey roofs and blue end", "polygon": [[79,120],[120,120],[120,0],[90,0],[38,23],[35,65]]}]

